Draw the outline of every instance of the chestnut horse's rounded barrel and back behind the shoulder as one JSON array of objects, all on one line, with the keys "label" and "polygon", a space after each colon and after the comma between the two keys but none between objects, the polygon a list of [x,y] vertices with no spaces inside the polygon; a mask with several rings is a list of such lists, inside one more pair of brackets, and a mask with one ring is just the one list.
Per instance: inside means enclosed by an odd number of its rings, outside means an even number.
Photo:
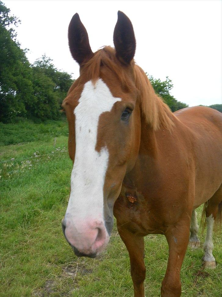
[{"label": "chestnut horse's rounded barrel and back behind the shoulder", "polygon": [[187,107],[174,115],[191,133],[195,159],[195,203],[206,202],[222,181],[222,114],[204,106]]}]

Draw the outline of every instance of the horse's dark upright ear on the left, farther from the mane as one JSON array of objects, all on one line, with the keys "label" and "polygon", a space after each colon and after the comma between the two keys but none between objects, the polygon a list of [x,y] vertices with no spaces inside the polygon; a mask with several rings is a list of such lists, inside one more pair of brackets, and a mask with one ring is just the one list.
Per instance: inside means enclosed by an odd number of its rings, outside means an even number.
[{"label": "horse's dark upright ear on the left, farther from the mane", "polygon": [[74,60],[76,60],[79,65],[87,62],[93,55],[93,52],[89,45],[89,38],[86,28],[80,21],[78,13],[74,14],[70,21],[68,39],[70,52]]}]

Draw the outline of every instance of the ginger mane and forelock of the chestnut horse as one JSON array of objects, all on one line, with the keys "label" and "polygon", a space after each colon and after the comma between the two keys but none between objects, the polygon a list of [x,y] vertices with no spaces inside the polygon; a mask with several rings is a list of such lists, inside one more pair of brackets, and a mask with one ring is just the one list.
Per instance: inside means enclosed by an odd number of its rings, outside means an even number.
[{"label": "ginger mane and forelock of the chestnut horse", "polygon": [[134,60],[131,61],[131,64],[134,71],[134,82],[116,58],[115,49],[106,46],[98,50],[82,69],[85,69],[84,76],[87,76],[88,80],[96,81],[100,77],[101,67],[107,66],[118,77],[125,91],[136,90],[138,92],[142,113],[154,130],[160,127],[171,129],[174,124],[173,114],[169,107],[156,95],[145,72],[135,64]]}]

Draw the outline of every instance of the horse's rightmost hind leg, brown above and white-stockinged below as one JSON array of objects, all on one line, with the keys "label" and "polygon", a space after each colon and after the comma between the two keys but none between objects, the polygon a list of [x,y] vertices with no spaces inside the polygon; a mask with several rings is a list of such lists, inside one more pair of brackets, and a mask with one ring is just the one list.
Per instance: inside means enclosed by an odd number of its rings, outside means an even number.
[{"label": "horse's rightmost hind leg, brown above and white-stockinged below", "polygon": [[205,237],[205,242],[203,245],[204,256],[203,265],[207,268],[215,268],[216,262],[213,257],[213,224],[217,217],[218,205],[222,200],[222,186],[217,190],[217,192],[210,198],[209,203],[206,208],[206,225],[207,232]]}]

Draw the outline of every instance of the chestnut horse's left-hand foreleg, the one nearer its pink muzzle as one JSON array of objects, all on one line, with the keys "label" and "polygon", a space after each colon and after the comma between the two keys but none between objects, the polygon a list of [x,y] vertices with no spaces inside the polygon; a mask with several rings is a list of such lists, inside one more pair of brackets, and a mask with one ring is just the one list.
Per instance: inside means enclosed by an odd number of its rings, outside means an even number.
[{"label": "chestnut horse's left-hand foreleg, the one nearer its pink muzzle", "polygon": [[[118,226],[118,223],[117,223]],[[118,228],[119,234],[125,243],[130,256],[131,277],[134,285],[134,297],[144,296],[144,280],[146,268],[144,264],[143,237],[134,235],[123,228]]]}]

